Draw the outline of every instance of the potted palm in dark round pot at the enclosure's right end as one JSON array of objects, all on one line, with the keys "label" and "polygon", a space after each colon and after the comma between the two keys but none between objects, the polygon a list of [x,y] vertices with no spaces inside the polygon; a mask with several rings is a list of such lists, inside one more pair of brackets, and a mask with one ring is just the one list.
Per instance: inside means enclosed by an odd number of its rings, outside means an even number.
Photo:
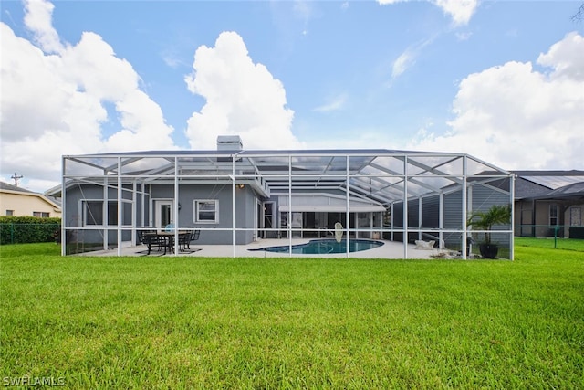
[{"label": "potted palm in dark round pot at the enclosure's right end", "polygon": [[496,258],[499,247],[491,241],[491,230],[494,225],[506,225],[511,222],[511,206],[493,205],[487,211],[474,211],[468,217],[468,226],[477,230],[485,230],[485,241],[478,248],[483,258]]}]

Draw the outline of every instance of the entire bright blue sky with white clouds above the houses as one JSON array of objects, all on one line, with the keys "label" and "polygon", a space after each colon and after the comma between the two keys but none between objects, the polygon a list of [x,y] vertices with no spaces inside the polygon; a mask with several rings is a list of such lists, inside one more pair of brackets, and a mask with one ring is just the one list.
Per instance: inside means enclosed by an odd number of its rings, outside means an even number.
[{"label": "entire bright blue sky with white clouds above the houses", "polygon": [[584,169],[579,1],[3,1],[0,178],[62,154],[387,148]]}]

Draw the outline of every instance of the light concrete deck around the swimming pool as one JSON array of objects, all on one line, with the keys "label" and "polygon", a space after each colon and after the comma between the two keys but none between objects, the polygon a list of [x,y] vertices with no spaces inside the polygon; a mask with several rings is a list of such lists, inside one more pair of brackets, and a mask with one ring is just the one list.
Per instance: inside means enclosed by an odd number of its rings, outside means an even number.
[{"label": "light concrete deck around the swimming pool", "polygon": [[[292,245],[305,244],[311,239],[315,238],[293,238],[291,240]],[[387,241],[387,240],[375,240],[381,241],[384,245],[377,248],[371,248],[367,250],[361,250],[359,252],[350,252],[348,258],[406,258],[404,256],[404,248],[402,242]],[[347,258],[346,254],[322,254],[322,255],[312,255],[312,254],[292,254],[289,253],[276,253],[267,252],[265,250],[253,250],[266,247],[279,247],[287,246],[290,244],[290,240],[268,238],[259,239],[247,245],[236,245],[235,253],[234,247],[232,245],[198,245],[196,241],[191,243],[192,252],[180,252],[178,254],[168,253],[163,255],[162,251],[152,250],[150,255],[146,255],[147,248],[144,245],[136,247],[126,247],[121,249],[122,256],[165,256],[165,257],[193,257],[193,258]],[[250,250],[252,249],[252,250]],[[415,245],[408,244],[407,246],[407,258],[432,258],[432,256],[438,255],[443,252],[444,249],[433,248],[428,249],[416,249]],[[117,256],[117,249],[110,250],[99,250],[95,252],[87,252],[82,254],[83,256]]]}]

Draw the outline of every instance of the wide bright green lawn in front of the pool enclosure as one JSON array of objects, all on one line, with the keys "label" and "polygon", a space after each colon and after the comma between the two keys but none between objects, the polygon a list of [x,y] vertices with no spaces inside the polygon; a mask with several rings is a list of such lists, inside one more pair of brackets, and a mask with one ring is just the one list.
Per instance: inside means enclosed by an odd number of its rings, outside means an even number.
[{"label": "wide bright green lawn in front of the pool enclosure", "polygon": [[70,388],[582,388],[584,251],[516,261],[0,247],[2,378]]}]

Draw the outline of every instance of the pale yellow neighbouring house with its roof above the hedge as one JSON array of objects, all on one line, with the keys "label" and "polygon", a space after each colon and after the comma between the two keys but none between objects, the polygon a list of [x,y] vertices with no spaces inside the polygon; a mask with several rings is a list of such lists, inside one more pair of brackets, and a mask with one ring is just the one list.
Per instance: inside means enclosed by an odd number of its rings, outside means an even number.
[{"label": "pale yellow neighbouring house with its roof above the hedge", "polygon": [[57,200],[4,182],[0,182],[0,210],[3,216],[61,216]]}]

